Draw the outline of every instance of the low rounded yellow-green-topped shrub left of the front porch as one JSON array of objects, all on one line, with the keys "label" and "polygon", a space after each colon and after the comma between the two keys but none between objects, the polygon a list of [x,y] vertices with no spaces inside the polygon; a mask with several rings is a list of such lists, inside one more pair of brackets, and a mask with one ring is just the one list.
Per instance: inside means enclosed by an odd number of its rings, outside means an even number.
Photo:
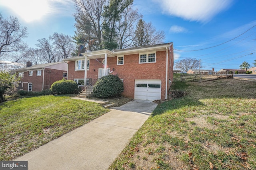
[{"label": "low rounded yellow-green-topped shrub left of the front porch", "polygon": [[52,84],[50,90],[54,94],[74,94],[78,92],[78,84],[73,80],[59,80]]}]

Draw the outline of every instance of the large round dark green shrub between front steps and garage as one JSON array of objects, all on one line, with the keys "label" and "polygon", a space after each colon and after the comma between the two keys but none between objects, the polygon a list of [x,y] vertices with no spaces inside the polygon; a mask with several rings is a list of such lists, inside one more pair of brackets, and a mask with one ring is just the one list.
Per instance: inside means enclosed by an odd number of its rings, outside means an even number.
[{"label": "large round dark green shrub between front steps and garage", "polygon": [[123,91],[124,84],[116,75],[108,75],[100,78],[93,88],[93,94],[97,98],[120,96]]}]

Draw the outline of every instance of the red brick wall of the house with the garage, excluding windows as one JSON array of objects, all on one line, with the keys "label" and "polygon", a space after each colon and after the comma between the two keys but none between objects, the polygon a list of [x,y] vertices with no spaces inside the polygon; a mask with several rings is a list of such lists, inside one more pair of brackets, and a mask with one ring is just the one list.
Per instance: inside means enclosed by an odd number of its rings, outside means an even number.
[{"label": "red brick wall of the house with the garage, excluding windows", "polygon": [[[170,53],[168,53],[168,60],[170,60]],[[104,68],[102,64],[103,58],[90,59],[89,70],[87,71],[87,78],[98,78],[98,68]],[[168,68],[173,61],[168,62]],[[165,100],[165,86],[166,86],[166,51],[156,52],[156,63],[143,63],[139,64],[139,54],[124,55],[124,64],[117,65],[117,57],[108,57],[107,67],[111,74],[118,75],[119,78],[124,79],[124,92],[123,96],[134,98],[134,87],[136,79],[158,79],[161,80],[161,100]],[[173,68],[171,68],[173,69]],[[95,71],[94,71],[95,70]],[[168,72],[168,88],[169,79],[172,77],[172,71]],[[68,62],[68,80],[75,78],[84,78],[84,71],[75,71],[75,61]]]}]

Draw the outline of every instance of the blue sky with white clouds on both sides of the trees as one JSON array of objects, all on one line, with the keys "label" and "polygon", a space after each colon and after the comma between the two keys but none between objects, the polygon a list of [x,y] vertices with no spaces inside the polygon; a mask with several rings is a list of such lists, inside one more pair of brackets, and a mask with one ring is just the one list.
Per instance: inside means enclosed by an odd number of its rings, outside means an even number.
[{"label": "blue sky with white clouds on both sides of the trees", "polygon": [[[164,30],[175,61],[196,58],[217,71],[256,60],[256,0],[134,0],[134,8]],[[30,47],[54,32],[74,35],[71,0],[0,0],[0,11],[28,28]]]}]

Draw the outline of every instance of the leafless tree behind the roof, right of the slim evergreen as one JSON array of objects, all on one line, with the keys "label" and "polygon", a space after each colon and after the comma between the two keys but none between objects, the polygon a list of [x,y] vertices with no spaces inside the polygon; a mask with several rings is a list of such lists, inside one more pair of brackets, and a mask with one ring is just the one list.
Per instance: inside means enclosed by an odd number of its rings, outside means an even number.
[{"label": "leafless tree behind the roof, right of the slim evergreen", "polygon": [[147,45],[164,43],[165,33],[163,30],[156,30],[152,22],[145,23],[145,34]]}]

